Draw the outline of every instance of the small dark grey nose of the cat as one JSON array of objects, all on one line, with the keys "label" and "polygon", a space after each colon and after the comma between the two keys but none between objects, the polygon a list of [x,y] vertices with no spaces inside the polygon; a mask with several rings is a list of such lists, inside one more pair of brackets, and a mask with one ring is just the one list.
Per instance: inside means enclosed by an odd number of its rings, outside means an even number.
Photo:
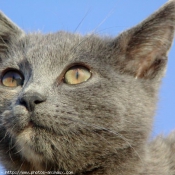
[{"label": "small dark grey nose of the cat", "polygon": [[24,105],[28,111],[33,111],[35,109],[35,105],[46,101],[46,97],[35,92],[35,93],[25,93],[20,98],[20,104]]}]

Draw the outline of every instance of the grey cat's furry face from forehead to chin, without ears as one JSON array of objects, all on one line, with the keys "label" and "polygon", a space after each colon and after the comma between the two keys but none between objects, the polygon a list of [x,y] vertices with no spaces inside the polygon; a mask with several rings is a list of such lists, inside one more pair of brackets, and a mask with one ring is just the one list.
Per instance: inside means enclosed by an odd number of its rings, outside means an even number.
[{"label": "grey cat's furry face from forehead to chin, without ears", "polygon": [[[0,65],[0,110],[16,152],[30,162],[63,166],[67,156],[100,159],[147,137],[153,87],[114,69],[109,42],[60,32],[25,36],[11,47]],[[83,70],[89,78],[77,83]]]}]

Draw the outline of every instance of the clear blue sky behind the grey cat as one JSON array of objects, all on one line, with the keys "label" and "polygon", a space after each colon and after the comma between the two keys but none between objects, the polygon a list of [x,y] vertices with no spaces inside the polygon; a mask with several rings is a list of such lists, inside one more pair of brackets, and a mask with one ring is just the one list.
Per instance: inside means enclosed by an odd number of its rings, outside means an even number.
[{"label": "clear blue sky behind the grey cat", "polygon": [[[0,10],[26,32],[66,30],[117,36],[161,7],[166,0],[0,0]],[[160,89],[152,136],[175,128],[175,44]],[[1,171],[0,171],[1,173]]]}]

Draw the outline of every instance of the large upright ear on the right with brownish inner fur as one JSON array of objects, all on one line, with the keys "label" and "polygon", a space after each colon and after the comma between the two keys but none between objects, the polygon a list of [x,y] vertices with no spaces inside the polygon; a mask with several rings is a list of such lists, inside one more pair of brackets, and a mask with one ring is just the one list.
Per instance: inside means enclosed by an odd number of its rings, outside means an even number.
[{"label": "large upright ear on the right with brownish inner fur", "polygon": [[125,54],[125,60],[120,60],[121,70],[136,78],[163,76],[174,32],[175,0],[171,0],[117,38],[117,45]]}]

